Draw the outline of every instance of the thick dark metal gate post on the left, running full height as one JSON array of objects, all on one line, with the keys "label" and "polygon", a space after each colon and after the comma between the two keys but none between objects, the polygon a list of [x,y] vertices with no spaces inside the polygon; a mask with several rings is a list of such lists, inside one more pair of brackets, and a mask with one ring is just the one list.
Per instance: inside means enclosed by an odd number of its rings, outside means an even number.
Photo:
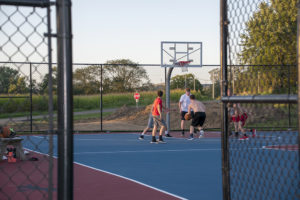
[{"label": "thick dark metal gate post on the left, running full height", "polygon": [[73,199],[73,92],[71,1],[56,1],[58,67],[57,199]]}]

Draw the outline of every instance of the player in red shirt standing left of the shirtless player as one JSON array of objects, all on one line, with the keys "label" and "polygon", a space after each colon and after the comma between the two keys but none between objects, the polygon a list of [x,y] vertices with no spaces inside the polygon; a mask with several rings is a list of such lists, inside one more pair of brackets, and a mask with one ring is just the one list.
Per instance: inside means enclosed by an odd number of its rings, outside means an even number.
[{"label": "player in red shirt standing left of the shirtless player", "polygon": [[[163,91],[159,90],[157,91],[157,98],[154,100],[154,103],[153,103],[153,109],[152,109],[152,116],[153,116],[153,120],[154,120],[154,127],[153,127],[153,130],[152,130],[152,141],[151,143],[165,143],[163,141],[163,138],[162,138],[162,134],[164,132],[164,130],[166,129],[166,123],[163,119],[163,116],[162,116],[162,109],[163,109],[163,106],[162,106],[162,99],[161,97],[163,96]],[[156,141],[156,130],[157,130],[157,127],[160,126],[160,131],[159,131],[159,138],[158,138],[158,141]]]}]

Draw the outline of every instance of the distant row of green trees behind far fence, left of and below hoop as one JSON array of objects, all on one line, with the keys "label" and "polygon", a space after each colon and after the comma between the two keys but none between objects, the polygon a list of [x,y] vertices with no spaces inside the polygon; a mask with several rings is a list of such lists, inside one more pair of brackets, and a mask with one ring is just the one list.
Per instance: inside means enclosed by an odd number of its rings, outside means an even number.
[{"label": "distant row of green trees behind far fence, left of and below hoop", "polygon": [[[57,92],[57,68],[52,70],[53,92]],[[73,72],[73,94],[90,95],[99,94],[101,86],[103,93],[134,92],[155,90],[157,87],[151,83],[146,70],[137,63],[128,59],[112,60],[102,65],[91,65],[77,68]],[[25,94],[30,90],[34,94],[48,93],[49,74],[45,74],[41,81],[30,80],[21,75],[18,70],[0,67],[0,94]],[[193,74],[177,75],[171,79],[171,89],[184,89],[187,87],[202,90],[202,85]]]}]

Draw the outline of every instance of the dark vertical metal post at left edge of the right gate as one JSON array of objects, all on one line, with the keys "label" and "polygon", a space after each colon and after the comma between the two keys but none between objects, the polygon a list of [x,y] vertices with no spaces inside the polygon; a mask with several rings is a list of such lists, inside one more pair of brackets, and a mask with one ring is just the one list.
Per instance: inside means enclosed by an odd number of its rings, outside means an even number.
[{"label": "dark vertical metal post at left edge of the right gate", "polygon": [[[227,96],[227,39],[228,39],[227,0],[220,0],[220,49],[221,49],[221,97]],[[222,102],[222,185],[223,199],[230,200],[230,166],[228,143],[228,110],[227,104]]]}]

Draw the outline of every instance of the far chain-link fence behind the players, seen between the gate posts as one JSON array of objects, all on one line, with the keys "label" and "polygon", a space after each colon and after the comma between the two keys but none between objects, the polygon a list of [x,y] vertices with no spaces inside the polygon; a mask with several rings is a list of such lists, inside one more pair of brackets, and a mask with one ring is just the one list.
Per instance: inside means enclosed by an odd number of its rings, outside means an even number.
[{"label": "far chain-link fence behind the players, seen between the gate posts", "polygon": [[[168,68],[157,64],[134,64],[114,60],[102,64],[73,65],[75,132],[142,131],[147,126],[157,90],[165,91]],[[209,123],[206,128],[220,129],[219,67],[175,68],[170,83],[170,129],[180,129],[178,102],[186,87],[205,101]],[[55,77],[54,77],[55,80]],[[214,83],[214,84],[213,84]],[[139,93],[138,101],[134,94]],[[166,93],[164,94],[164,103]],[[188,129],[186,124],[186,129]]]}]

